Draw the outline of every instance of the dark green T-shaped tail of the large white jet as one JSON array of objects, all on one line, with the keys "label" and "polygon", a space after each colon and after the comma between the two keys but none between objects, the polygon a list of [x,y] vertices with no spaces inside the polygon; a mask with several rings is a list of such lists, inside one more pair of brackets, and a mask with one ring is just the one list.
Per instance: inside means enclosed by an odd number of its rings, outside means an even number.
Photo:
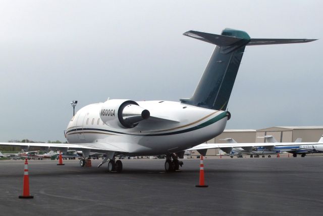
[{"label": "dark green T-shaped tail of the large white jet", "polygon": [[181,99],[184,104],[226,110],[246,46],[306,43],[309,39],[251,39],[240,30],[224,29],[221,35],[188,31],[184,35],[217,45],[193,96]]}]

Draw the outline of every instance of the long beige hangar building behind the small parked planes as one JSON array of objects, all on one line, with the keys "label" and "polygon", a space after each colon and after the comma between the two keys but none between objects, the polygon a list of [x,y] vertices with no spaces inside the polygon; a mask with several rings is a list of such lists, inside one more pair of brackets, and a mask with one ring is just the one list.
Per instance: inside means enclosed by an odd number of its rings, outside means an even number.
[{"label": "long beige hangar building behind the small parked planes", "polygon": [[[264,129],[228,129],[219,136],[208,140],[206,143],[226,143],[224,138],[233,138],[237,142],[264,142],[259,136],[273,135],[278,142],[294,142],[302,138],[302,142],[317,142],[323,134],[323,126],[275,126]],[[217,149],[209,149],[206,156],[219,154]],[[194,151],[193,155],[199,155]]]}]

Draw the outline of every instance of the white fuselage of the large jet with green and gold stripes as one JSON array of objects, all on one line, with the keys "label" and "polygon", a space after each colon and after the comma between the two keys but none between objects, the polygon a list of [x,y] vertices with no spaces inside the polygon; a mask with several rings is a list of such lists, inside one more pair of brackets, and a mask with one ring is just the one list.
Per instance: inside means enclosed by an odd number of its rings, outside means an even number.
[{"label": "white fuselage of the large jet with green and gold stripes", "polygon": [[180,102],[141,101],[136,103],[149,110],[150,117],[125,128],[116,117],[118,109],[105,103],[114,102],[90,104],[76,113],[67,127],[69,143],[113,143],[129,156],[177,153],[221,134],[228,119],[227,111]]}]

